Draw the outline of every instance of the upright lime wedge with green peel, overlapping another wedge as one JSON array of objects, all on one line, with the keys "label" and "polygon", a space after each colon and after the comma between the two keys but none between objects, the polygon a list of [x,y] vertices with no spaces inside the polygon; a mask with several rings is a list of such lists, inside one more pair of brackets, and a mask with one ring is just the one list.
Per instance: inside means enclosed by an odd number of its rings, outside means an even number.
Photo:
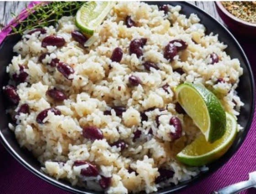
[{"label": "upright lime wedge with green peel, overlapping another wedge", "polygon": [[181,84],[176,87],[176,98],[207,142],[213,143],[225,133],[226,115],[217,97],[203,85]]}]

